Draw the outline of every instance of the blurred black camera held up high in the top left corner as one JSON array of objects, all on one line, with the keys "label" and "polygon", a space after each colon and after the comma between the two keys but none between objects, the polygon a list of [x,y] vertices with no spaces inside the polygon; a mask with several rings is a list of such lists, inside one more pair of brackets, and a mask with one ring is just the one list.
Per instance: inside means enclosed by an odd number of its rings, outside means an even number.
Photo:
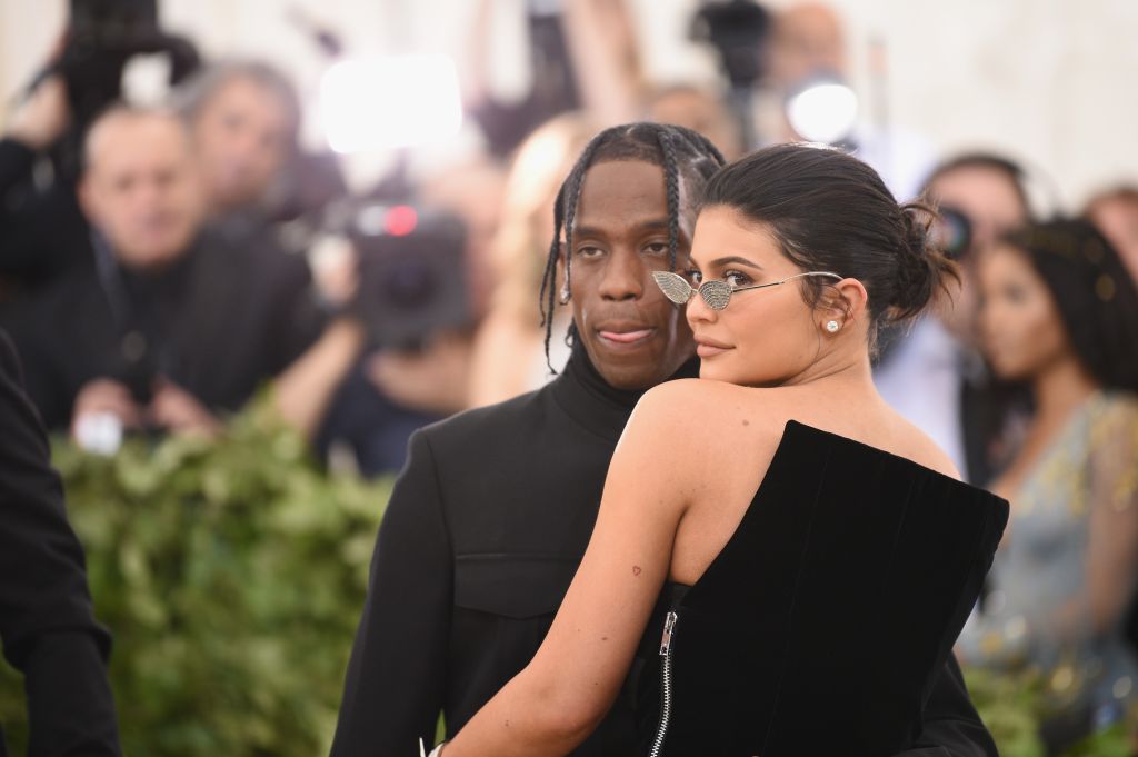
[{"label": "blurred black camera held up high in the top left corner", "polygon": [[131,59],[156,54],[168,56],[171,84],[200,64],[189,40],[158,28],[157,0],[71,0],[63,51],[33,83],[58,74],[66,84],[72,126],[57,146],[65,171],[77,173],[83,135],[100,110],[122,98]]}]

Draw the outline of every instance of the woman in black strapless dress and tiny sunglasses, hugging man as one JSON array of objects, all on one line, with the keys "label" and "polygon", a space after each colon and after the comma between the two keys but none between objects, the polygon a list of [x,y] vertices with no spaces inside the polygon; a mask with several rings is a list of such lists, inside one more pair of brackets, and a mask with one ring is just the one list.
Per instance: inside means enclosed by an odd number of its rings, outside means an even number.
[{"label": "woman in black strapless dress and tiny sunglasses, hugging man", "polygon": [[[566,229],[569,281],[605,264]],[[691,257],[657,278],[701,379],[641,400],[541,650],[446,757],[569,751],[638,647],[638,754],[893,754],[920,730],[1007,510],[876,395],[869,352],[950,264],[871,168],[805,146],[712,178]],[[823,676],[864,696],[826,706]]]}]

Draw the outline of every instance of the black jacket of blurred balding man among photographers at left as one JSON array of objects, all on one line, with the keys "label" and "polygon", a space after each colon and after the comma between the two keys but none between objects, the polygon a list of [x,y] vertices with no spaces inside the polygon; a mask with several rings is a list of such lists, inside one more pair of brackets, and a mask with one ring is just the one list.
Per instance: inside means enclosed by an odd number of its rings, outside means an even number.
[{"label": "black jacket of blurred balding man among photographers at left", "polygon": [[160,272],[98,263],[3,318],[48,428],[66,428],[75,395],[100,377],[142,404],[162,376],[214,411],[237,410],[319,336],[307,264],[267,244],[206,231]]}]

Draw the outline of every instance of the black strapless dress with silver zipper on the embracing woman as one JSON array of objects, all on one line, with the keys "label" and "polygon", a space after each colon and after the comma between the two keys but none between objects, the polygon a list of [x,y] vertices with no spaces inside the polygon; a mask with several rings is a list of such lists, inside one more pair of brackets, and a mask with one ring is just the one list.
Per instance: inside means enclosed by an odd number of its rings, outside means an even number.
[{"label": "black strapless dress with silver zipper on the embracing woman", "polygon": [[988,492],[787,422],[723,551],[661,593],[633,692],[638,755],[902,751],[1007,516]]}]

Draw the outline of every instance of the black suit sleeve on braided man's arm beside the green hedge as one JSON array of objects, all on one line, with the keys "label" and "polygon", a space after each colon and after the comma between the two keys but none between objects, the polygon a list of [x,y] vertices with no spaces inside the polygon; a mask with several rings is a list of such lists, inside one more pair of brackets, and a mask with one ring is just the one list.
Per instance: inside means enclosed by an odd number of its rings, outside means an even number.
[{"label": "black suit sleeve on braided man's arm beside the green hedge", "polygon": [[446,691],[453,560],[438,471],[417,431],[379,528],[333,757],[417,755]]}]

